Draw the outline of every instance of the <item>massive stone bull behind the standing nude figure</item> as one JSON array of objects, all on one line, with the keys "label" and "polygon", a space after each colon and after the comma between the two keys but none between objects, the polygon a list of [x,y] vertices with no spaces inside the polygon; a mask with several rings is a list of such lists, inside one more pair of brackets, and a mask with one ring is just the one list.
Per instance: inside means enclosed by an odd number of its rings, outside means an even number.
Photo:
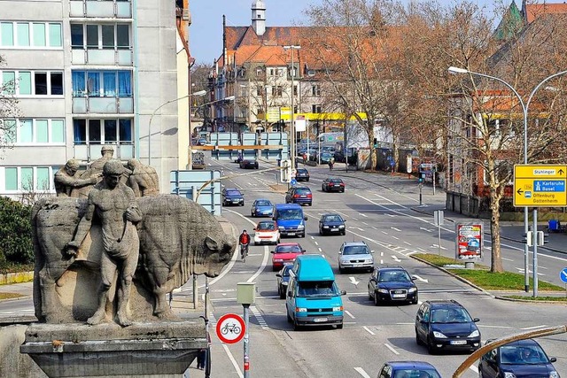
[{"label": "massive stone bull behind the standing nude figure", "polygon": [[[226,235],[214,215],[184,197],[140,197],[137,224],[140,257],[129,300],[129,320],[173,319],[166,294],[191,274],[215,277],[229,263],[237,241]],[[88,320],[97,311],[100,261],[105,251],[97,217],[76,254],[66,254],[87,212],[85,198],[50,197],[32,212],[35,249],[35,315],[43,322]],[[113,283],[115,285],[115,283]],[[113,319],[113,290],[105,315]]]}]

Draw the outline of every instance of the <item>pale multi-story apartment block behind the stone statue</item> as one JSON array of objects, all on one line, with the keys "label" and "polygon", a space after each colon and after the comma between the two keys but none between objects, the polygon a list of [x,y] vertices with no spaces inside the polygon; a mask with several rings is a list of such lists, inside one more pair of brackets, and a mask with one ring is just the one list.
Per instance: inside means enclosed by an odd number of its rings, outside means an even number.
[{"label": "pale multi-story apartment block behind the stone statue", "polygon": [[0,0],[0,76],[19,109],[4,115],[12,133],[0,151],[0,195],[52,194],[60,166],[89,166],[104,145],[153,166],[168,191],[189,143],[179,131],[189,101],[175,100],[189,93],[180,36],[189,18],[177,3]]}]

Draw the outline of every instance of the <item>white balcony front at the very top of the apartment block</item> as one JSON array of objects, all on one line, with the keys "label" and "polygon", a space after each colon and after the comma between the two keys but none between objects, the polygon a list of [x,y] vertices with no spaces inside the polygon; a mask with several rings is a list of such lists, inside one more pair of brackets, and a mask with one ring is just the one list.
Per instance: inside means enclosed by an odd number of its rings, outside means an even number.
[{"label": "white balcony front at the very top of the apartment block", "polygon": [[132,18],[132,2],[124,0],[71,0],[69,8],[71,18]]}]

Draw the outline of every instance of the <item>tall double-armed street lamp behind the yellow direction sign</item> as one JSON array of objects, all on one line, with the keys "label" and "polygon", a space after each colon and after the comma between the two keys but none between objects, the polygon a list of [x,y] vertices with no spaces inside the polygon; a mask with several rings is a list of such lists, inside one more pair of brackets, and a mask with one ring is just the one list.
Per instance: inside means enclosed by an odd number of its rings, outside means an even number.
[{"label": "tall double-armed street lamp behind the yellow direction sign", "polygon": [[[480,77],[485,77],[487,79],[492,79],[495,81],[499,81],[502,84],[504,84],[506,87],[508,87],[512,92],[514,92],[514,95],[517,96],[517,100],[519,101],[519,103],[522,105],[522,112],[524,113],[524,164],[527,165],[528,164],[528,109],[530,108],[530,103],[532,102],[532,97],[533,95],[535,95],[535,92],[538,91],[538,89],[540,89],[540,87],[545,84],[546,82],[548,82],[549,80],[563,75],[565,73],[567,73],[566,71],[561,71],[559,73],[554,73],[550,76],[548,76],[547,78],[545,78],[544,80],[540,81],[540,83],[538,85],[535,86],[534,89],[532,89],[532,92],[530,93],[530,96],[528,96],[528,100],[527,102],[524,103],[524,100],[522,99],[522,96],[520,96],[517,93],[517,90],[514,89],[514,87],[512,87],[508,82],[503,81],[500,78],[497,78],[495,76],[491,76],[491,75],[487,75],[485,73],[475,73],[472,71],[469,71],[465,68],[459,68],[459,67],[454,67],[454,66],[450,66],[448,68],[449,73],[469,73],[470,75],[476,75],[476,76],[480,76]],[[535,211],[534,211],[534,219],[533,219],[533,232],[535,235],[535,232],[537,231],[537,224],[536,224],[536,218],[535,218]],[[524,206],[524,234],[527,235],[529,231],[529,225],[528,225],[528,206]],[[537,255],[537,243],[533,243],[533,297],[537,297],[538,296],[538,255]],[[529,273],[528,273],[528,265],[529,265],[529,261],[528,261],[528,244],[527,241],[524,244],[524,289],[525,291],[529,291],[530,289],[530,281],[529,281]]]}]

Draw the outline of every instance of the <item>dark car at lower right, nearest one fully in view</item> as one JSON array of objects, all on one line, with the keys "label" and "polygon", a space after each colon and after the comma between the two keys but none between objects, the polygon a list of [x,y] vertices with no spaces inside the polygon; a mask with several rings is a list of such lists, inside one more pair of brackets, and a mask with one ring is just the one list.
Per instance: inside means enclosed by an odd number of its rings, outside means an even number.
[{"label": "dark car at lower right, nearest one fully in view", "polygon": [[480,347],[478,318],[455,300],[425,301],[416,314],[416,343],[434,354],[441,350],[476,351]]}]

